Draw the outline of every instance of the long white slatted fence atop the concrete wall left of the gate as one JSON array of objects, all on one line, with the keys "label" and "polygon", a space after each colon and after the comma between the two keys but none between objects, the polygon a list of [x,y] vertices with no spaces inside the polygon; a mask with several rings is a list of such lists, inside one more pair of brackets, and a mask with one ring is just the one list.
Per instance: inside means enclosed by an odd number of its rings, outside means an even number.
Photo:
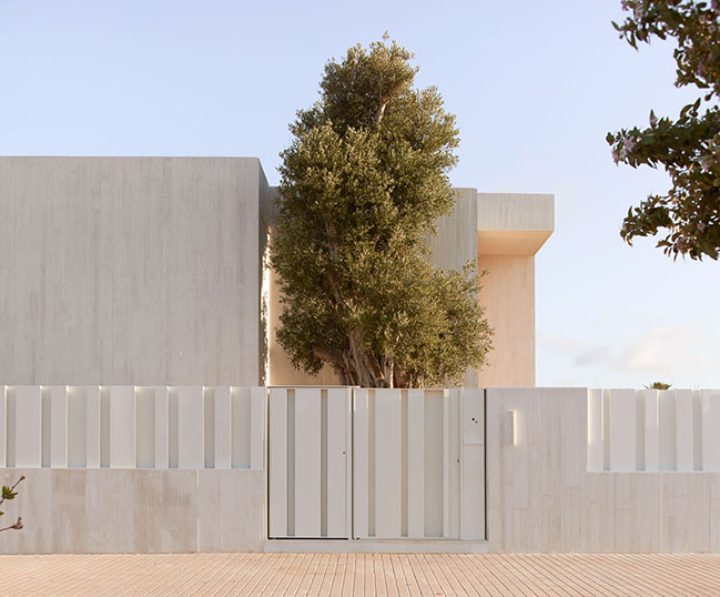
[{"label": "long white slatted fence atop the concrete wall left of the gate", "polygon": [[0,466],[263,468],[265,388],[0,386]]}]

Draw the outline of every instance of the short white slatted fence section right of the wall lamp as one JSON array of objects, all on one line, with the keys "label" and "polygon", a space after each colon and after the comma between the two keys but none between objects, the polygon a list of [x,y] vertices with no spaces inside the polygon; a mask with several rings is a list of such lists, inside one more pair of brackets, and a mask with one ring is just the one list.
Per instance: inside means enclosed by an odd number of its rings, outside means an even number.
[{"label": "short white slatted fence section right of the wall lamp", "polygon": [[589,389],[588,470],[720,470],[720,391]]}]

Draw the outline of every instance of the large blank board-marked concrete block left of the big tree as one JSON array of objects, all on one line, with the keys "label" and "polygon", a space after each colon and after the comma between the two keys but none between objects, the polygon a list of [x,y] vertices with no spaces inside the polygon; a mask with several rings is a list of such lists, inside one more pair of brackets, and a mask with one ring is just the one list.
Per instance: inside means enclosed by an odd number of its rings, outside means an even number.
[{"label": "large blank board-marked concrete block left of the big tree", "polygon": [[254,158],[0,158],[0,383],[255,385]]}]

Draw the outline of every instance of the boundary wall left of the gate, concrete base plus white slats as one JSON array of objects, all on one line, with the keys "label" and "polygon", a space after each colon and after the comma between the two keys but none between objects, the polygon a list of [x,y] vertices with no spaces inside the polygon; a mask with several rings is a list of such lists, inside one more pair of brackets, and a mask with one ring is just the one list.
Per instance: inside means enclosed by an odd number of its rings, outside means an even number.
[{"label": "boundary wall left of the gate, concrete base plus white slats", "polygon": [[264,387],[0,386],[0,553],[258,552]]}]

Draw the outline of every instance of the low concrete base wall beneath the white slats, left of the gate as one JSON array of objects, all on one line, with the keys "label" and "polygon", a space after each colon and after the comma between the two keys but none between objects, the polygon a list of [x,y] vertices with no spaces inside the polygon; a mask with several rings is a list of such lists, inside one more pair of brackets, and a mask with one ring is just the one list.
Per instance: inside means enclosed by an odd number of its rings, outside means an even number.
[{"label": "low concrete base wall beneath the white slats, left of the gate", "polygon": [[[1,554],[262,552],[263,470],[3,468]],[[7,523],[7,524],[12,524]]]}]

